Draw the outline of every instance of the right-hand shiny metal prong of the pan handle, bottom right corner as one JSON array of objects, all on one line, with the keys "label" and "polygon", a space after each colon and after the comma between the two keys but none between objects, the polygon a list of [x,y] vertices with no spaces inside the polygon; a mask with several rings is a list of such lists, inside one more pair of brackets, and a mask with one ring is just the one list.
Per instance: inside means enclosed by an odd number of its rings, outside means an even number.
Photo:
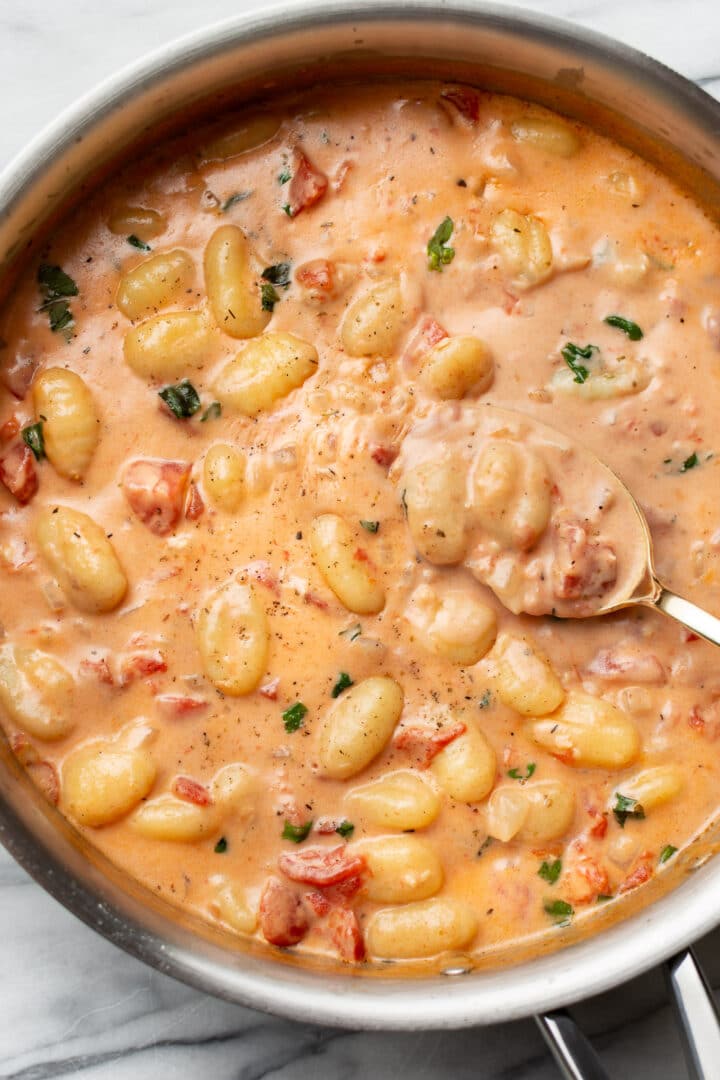
[{"label": "right-hand shiny metal prong of the pan handle, bottom right corner", "polygon": [[692,1080],[719,1080],[720,1015],[692,949],[667,961],[665,978],[680,1022],[682,1049]]}]

